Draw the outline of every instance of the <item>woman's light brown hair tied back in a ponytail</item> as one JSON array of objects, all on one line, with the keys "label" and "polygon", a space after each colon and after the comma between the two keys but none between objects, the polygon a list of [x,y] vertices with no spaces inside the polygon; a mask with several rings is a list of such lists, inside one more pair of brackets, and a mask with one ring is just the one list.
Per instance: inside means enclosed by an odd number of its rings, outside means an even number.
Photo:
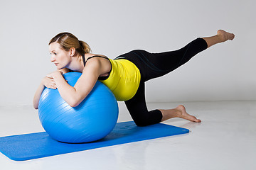
[{"label": "woman's light brown hair tied back in a ponytail", "polygon": [[50,40],[49,45],[53,42],[58,42],[60,47],[65,51],[69,51],[70,48],[75,47],[75,51],[80,55],[91,52],[90,46],[86,42],[78,40],[72,33],[59,33]]}]

